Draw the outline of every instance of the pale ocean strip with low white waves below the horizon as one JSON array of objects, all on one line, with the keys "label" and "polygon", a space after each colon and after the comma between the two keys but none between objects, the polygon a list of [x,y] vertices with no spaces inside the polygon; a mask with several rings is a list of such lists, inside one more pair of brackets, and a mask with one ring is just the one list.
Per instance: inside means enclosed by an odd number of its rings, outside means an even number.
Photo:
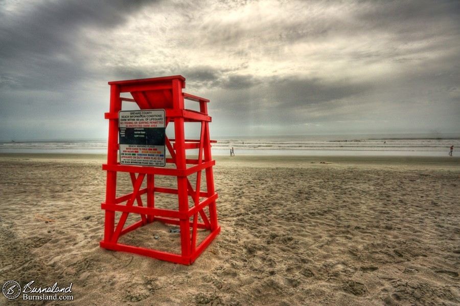
[{"label": "pale ocean strip with low white waves below the horizon", "polygon": [[[460,135],[315,135],[216,137],[213,155],[460,156]],[[106,154],[107,141],[2,141],[0,153]],[[193,154],[193,150],[190,152]]]}]

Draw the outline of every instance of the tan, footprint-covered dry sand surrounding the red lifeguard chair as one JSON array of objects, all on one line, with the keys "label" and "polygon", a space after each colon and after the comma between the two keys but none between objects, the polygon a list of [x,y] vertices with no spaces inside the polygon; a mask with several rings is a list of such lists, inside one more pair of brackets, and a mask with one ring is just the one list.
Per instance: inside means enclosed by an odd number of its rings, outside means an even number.
[{"label": "tan, footprint-covered dry sand surrounding the red lifeguard chair", "polygon": [[183,266],[99,247],[103,156],[0,155],[0,286],[72,282],[69,304],[460,304],[460,159],[216,160],[222,231]]}]

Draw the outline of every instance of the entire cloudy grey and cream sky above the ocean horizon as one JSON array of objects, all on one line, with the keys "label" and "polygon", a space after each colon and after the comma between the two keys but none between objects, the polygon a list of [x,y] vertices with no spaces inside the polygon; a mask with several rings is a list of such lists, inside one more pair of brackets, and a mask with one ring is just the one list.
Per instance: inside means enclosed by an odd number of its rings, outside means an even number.
[{"label": "entire cloudy grey and cream sky above the ocean horizon", "polygon": [[460,133],[460,1],[0,0],[0,140],[105,138],[183,75],[214,136]]}]

